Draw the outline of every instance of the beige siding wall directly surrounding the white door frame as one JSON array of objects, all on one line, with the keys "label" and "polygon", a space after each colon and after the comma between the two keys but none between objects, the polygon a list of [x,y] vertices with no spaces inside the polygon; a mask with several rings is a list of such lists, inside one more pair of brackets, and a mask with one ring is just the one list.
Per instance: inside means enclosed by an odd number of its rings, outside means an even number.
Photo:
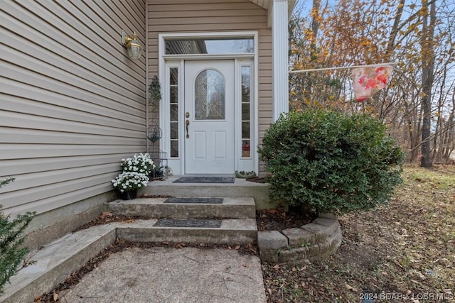
[{"label": "beige siding wall directly surrounding the white door frame", "polygon": [[272,31],[267,27],[267,10],[248,0],[149,0],[147,11],[149,79],[159,72],[160,33],[258,32],[260,140],[273,116]]}]

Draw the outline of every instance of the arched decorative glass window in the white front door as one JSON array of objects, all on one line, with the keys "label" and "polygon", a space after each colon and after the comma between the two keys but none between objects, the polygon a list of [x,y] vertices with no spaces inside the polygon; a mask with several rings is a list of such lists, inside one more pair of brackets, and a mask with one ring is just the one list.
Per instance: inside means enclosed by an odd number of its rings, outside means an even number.
[{"label": "arched decorative glass window in the white front door", "polygon": [[225,119],[225,78],[216,70],[203,70],[194,83],[196,120]]}]

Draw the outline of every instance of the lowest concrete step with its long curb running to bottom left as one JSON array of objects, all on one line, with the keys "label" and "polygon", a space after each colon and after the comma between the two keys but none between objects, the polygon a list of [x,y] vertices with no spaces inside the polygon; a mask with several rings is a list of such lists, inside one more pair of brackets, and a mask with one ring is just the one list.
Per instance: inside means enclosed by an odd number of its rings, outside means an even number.
[{"label": "lowest concrete step with its long curb running to bottom left", "polygon": [[33,302],[53,290],[90,258],[114,243],[125,241],[244,244],[257,241],[255,219],[223,219],[220,228],[176,228],[154,226],[156,219],[130,223],[114,222],[71,233],[31,255],[36,261],[11,277],[0,295],[0,302]]}]

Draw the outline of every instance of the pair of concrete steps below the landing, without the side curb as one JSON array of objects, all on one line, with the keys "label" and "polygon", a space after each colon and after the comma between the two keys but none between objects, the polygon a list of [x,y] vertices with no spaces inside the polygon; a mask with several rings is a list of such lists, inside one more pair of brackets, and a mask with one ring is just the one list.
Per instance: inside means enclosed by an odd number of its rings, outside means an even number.
[{"label": "pair of concrete steps below the landing, without the side curb", "polygon": [[[206,198],[210,199],[210,198]],[[107,203],[112,214],[142,216],[117,230],[117,237],[127,241],[245,244],[257,241],[256,209],[253,198],[223,197],[222,203],[167,203],[166,198],[117,200]],[[157,219],[213,219],[220,227],[154,226]],[[209,220],[210,221],[210,220]]]}]

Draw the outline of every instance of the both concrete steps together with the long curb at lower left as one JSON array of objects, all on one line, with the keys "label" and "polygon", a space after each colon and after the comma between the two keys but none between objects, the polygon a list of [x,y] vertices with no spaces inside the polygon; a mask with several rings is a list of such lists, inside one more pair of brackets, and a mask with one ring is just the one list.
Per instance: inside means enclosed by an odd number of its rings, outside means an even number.
[{"label": "both concrete steps together with the long curb at lower left", "polygon": [[[114,222],[70,233],[48,244],[4,287],[0,302],[33,302],[53,290],[72,272],[119,238],[124,241],[191,244],[245,244],[257,241],[255,201],[224,198],[223,204],[173,204],[166,199],[118,200],[106,204],[114,214],[150,217],[132,222]],[[155,226],[158,218],[217,220],[219,227]]]}]

